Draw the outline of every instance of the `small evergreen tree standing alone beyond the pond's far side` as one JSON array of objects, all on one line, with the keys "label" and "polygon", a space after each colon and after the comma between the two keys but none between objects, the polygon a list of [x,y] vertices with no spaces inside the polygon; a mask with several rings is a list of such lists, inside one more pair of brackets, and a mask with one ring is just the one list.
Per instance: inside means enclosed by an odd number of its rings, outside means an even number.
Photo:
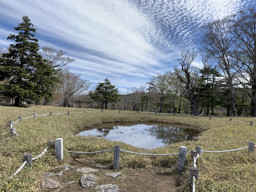
[{"label": "small evergreen tree standing alone beyond the pond's far side", "polygon": [[104,81],[104,83],[99,83],[97,85],[94,92],[89,93],[94,101],[101,103],[101,109],[107,109],[109,102],[117,102],[120,97],[118,88],[115,88],[115,85],[111,85],[108,78]]}]

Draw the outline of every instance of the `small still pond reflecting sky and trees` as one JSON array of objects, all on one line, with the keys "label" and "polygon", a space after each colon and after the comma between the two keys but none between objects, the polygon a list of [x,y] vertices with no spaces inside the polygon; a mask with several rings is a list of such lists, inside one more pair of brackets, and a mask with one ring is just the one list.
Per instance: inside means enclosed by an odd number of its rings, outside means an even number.
[{"label": "small still pond reflecting sky and trees", "polygon": [[191,127],[162,123],[101,124],[78,135],[103,137],[135,147],[153,149],[185,140],[194,140],[200,131]]}]

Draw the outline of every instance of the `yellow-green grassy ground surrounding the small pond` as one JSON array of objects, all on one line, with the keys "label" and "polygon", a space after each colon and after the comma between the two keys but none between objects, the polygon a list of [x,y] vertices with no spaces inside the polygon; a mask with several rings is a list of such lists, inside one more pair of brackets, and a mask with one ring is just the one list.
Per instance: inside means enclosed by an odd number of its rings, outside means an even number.
[{"label": "yellow-green grassy ground surrounding the small pond", "polygon": [[[86,111],[100,111],[85,109]],[[26,108],[0,106],[0,191],[38,191],[42,183],[42,173],[59,166],[68,164],[72,158],[68,150],[99,151],[121,145],[127,151],[170,154],[178,153],[180,146],[188,151],[201,146],[203,150],[219,151],[246,147],[248,142],[256,141],[256,125],[228,121],[229,117],[218,117],[217,120],[191,116],[172,116],[154,113],[78,113],[70,115],[37,116],[22,119],[14,124],[19,136],[9,137],[9,121],[16,121],[18,116],[29,117],[53,113],[82,112],[79,108],[59,108],[46,106],[28,106]],[[104,110],[107,111],[107,110]],[[111,111],[114,112],[114,111]],[[118,112],[118,111],[115,111]],[[240,122],[255,121],[255,118],[232,117]],[[162,122],[183,124],[204,130],[196,141],[185,141],[162,148],[145,150],[125,143],[104,140],[102,138],[77,136],[79,129],[102,123],[115,122]],[[13,179],[9,177],[23,163],[22,156],[32,153],[39,155],[48,145],[47,141],[57,138],[64,140],[64,159],[57,162],[54,149],[33,161],[33,168],[23,168]],[[199,180],[196,191],[256,191],[256,155],[248,153],[248,149],[228,153],[203,153],[197,160]],[[83,155],[97,164],[111,166],[113,153]],[[178,156],[148,157],[121,154],[120,169],[138,167],[176,167]],[[188,185],[189,168],[193,160],[187,155],[185,172],[177,191],[192,191]]]}]

